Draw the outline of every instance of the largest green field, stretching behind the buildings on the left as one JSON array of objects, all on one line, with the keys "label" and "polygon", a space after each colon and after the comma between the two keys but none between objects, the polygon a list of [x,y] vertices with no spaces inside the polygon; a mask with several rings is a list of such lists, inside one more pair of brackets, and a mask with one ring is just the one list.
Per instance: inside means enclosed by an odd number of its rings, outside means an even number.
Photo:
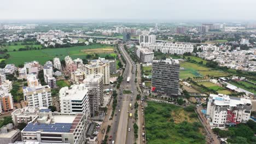
[{"label": "largest green field, stretching behind the buildings on the left", "polygon": [[[40,64],[44,64],[46,61],[53,59],[54,57],[59,57],[60,59],[64,59],[66,56],[71,56],[72,58],[85,58],[88,55],[82,50],[85,49],[97,49],[111,47],[108,45],[88,45],[88,46],[74,46],[67,48],[59,48],[59,49],[43,49],[43,50],[30,50],[30,51],[15,51],[8,52],[10,58],[5,60],[7,64],[13,63],[15,65],[24,64],[24,62],[31,61],[39,61]],[[97,53],[99,57],[105,57],[107,55],[117,56],[115,53]]]}]

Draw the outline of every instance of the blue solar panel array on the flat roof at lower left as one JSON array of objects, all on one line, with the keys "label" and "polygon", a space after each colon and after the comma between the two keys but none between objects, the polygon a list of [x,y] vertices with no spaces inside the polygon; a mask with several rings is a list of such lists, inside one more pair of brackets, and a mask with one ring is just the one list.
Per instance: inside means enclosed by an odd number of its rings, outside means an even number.
[{"label": "blue solar panel array on the flat roof at lower left", "polygon": [[44,131],[50,133],[69,133],[72,123],[39,124],[29,123],[24,131]]}]

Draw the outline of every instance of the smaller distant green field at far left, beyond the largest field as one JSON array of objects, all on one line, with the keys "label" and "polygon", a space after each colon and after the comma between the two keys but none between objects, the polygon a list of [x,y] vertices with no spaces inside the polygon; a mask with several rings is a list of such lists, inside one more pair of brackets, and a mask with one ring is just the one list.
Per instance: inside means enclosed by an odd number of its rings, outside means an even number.
[{"label": "smaller distant green field at far left, beyond the largest field", "polygon": [[[30,47],[36,47],[36,48],[41,48],[42,45],[34,45],[34,42],[33,42],[33,45],[21,45],[23,42],[13,42],[13,43],[8,43],[8,44],[5,44],[5,46],[1,47],[1,50],[4,50],[4,49],[7,49],[8,51],[18,51],[20,48],[30,48]],[[9,45],[10,44],[10,45]]]}]

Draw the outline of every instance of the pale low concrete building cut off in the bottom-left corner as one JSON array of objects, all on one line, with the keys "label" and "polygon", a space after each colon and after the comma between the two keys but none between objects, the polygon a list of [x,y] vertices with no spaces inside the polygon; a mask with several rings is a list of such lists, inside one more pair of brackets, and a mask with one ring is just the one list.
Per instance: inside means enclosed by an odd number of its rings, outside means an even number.
[{"label": "pale low concrete building cut off in the bottom-left corner", "polygon": [[4,125],[0,129],[0,143],[1,144],[14,143],[15,141],[20,141],[20,140],[21,140],[20,130],[14,129],[12,123]]}]

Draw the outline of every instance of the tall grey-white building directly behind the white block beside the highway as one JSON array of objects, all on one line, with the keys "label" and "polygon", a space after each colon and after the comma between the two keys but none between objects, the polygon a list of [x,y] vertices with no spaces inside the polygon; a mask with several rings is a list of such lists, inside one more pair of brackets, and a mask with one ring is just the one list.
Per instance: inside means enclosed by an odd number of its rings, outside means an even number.
[{"label": "tall grey-white building directly behind the white block beside the highway", "polygon": [[89,97],[91,115],[94,116],[94,114],[99,111],[99,107],[103,103],[103,74],[92,74],[86,76],[84,84],[89,89],[94,89],[94,91],[96,91],[96,93],[91,94],[91,97]]}]

